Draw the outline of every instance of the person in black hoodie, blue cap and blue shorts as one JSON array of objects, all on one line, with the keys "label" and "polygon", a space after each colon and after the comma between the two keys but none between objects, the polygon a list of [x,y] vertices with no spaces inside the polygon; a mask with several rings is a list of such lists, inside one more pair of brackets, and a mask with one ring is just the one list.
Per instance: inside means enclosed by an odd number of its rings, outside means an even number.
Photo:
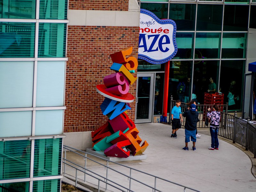
[{"label": "person in black hoodie, blue cap and blue shorts", "polygon": [[193,142],[193,147],[192,150],[196,150],[196,124],[199,121],[198,118],[198,112],[196,111],[196,105],[191,104],[190,109],[188,111],[185,111],[183,113],[183,117],[186,117],[186,122],[185,122],[185,147],[182,148],[185,151],[188,151],[188,142],[190,142],[190,137],[191,141]]}]

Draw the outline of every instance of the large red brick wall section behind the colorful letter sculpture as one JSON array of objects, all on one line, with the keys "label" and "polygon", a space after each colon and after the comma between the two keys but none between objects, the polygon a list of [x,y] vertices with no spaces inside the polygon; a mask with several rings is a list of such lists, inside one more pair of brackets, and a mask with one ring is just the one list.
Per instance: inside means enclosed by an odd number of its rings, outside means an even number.
[{"label": "large red brick wall section behind the colorful letter sculpture", "polygon": [[[68,26],[64,132],[94,131],[107,121],[96,85],[114,73],[110,54],[132,46],[131,56],[137,59],[138,38],[139,27]],[[129,92],[135,97],[136,82]],[[130,106],[128,116],[134,121],[135,101]]]}]

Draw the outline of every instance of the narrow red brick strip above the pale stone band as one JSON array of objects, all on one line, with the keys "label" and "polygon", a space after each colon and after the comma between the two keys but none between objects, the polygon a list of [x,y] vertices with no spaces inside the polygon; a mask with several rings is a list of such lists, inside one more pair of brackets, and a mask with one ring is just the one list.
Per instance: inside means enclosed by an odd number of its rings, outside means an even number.
[{"label": "narrow red brick strip above the pale stone band", "polygon": [[128,11],[129,0],[69,0],[69,9],[100,10],[100,11]]}]

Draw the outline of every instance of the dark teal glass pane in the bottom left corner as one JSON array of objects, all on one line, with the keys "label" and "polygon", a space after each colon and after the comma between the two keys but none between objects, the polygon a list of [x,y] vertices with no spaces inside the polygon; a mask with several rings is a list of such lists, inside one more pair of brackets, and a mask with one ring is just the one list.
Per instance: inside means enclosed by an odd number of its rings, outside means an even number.
[{"label": "dark teal glass pane in the bottom left corner", "polygon": [[2,183],[0,184],[1,192],[29,192],[29,182]]}]

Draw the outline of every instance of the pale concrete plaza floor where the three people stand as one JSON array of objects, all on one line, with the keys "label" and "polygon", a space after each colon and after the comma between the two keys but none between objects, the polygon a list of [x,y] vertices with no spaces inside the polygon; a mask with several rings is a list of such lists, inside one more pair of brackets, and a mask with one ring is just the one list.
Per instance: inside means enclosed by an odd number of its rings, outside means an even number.
[{"label": "pale concrete plaza floor where the three people stand", "polygon": [[[146,140],[149,143],[144,152],[147,159],[120,164],[199,191],[256,191],[256,179],[251,172],[252,162],[236,146],[219,139],[219,150],[209,150],[211,137],[201,134],[202,137],[196,141],[196,151],[192,151],[192,142],[188,143],[189,150],[184,151],[184,129],[177,131],[178,138],[175,139],[170,137],[172,127],[167,124],[136,124],[136,127],[142,142]],[[91,169],[94,169],[93,166]]]}]

